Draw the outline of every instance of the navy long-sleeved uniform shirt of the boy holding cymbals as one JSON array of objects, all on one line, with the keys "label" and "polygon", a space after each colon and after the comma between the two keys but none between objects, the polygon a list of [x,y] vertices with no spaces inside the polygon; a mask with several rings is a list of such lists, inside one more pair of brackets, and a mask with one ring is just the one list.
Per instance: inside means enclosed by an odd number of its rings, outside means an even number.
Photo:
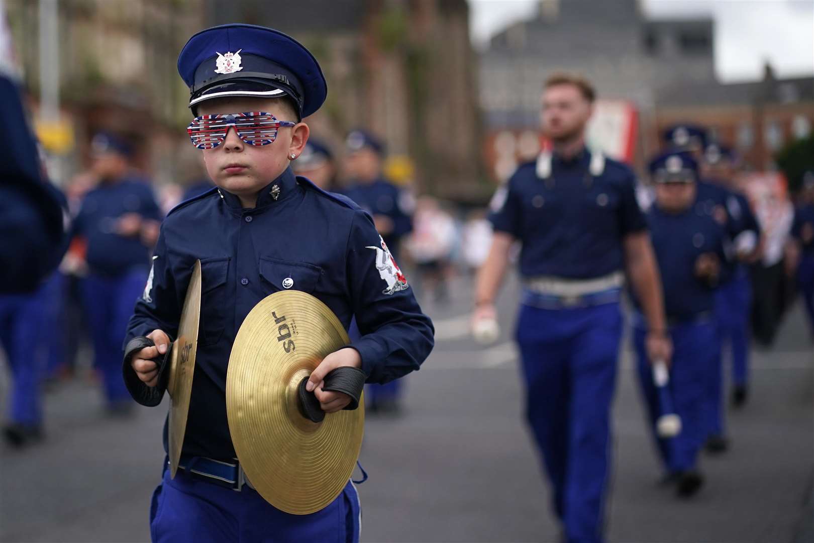
[{"label": "navy long-sleeved uniform shirt of the boy holding cymbals", "polygon": [[[269,195],[274,185],[276,201]],[[174,339],[200,259],[201,320],[184,454],[234,458],[225,404],[234,337],[249,311],[282,291],[287,278],[291,289],[322,300],[346,330],[356,316],[361,338],[350,346],[360,353],[368,382],[418,370],[433,346],[432,323],[407,283],[380,269],[383,260],[391,262],[382,245],[367,213],[290,168],[260,191],[256,208],[244,209],[236,196],[213,189],[168,214],[152,283],[136,304],[125,344],[156,328]],[[138,379],[125,371],[125,379]]]}]

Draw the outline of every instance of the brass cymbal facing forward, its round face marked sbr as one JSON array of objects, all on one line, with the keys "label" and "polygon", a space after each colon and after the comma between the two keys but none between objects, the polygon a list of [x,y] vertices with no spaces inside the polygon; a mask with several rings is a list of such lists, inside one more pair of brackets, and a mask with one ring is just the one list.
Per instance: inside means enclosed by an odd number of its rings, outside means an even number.
[{"label": "brass cymbal facing forward, its round face marked sbr", "polygon": [[300,413],[297,394],[300,381],[348,343],[335,314],[302,291],[261,300],[234,339],[226,373],[232,443],[247,480],[279,510],[321,510],[339,496],[356,465],[364,401],[313,423]]}]

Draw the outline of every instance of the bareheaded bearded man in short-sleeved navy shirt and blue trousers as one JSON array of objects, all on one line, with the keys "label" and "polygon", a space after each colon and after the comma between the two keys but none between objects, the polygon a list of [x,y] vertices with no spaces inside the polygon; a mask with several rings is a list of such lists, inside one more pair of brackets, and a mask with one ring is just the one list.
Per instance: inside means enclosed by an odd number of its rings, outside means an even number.
[{"label": "bareheaded bearded man in short-sleeved navy shirt and blue trousers", "polygon": [[473,327],[496,316],[495,297],[519,241],[524,289],[517,341],[526,415],[553,486],[567,541],[603,541],[625,270],[641,300],[650,361],[672,353],[647,225],[624,164],[585,148],[593,86],[550,77],[542,124],[553,144],[523,164],[492,215],[495,234],[475,287]]}]

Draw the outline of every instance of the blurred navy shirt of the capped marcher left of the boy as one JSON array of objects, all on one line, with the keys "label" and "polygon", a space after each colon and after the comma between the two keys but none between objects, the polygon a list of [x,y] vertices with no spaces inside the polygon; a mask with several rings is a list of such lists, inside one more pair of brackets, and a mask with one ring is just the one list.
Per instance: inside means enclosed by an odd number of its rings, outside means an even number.
[{"label": "blurred navy shirt of the capped marcher left of the boy", "polygon": [[87,240],[86,260],[94,274],[116,276],[149,265],[151,247],[145,246],[138,235],[115,232],[116,221],[131,212],[160,221],[161,213],[147,182],[128,177],[100,183],[82,199],[73,233]]}]

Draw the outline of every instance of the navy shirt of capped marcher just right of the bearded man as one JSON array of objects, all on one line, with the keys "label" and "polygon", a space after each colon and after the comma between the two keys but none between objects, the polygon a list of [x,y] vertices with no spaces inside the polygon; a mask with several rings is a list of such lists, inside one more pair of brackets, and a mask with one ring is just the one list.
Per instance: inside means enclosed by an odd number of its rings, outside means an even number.
[{"label": "navy shirt of capped marcher just right of the bearded man", "polygon": [[[702,202],[696,197],[696,203],[699,201]],[[723,263],[724,226],[698,205],[672,214],[654,204],[647,213],[647,221],[659,264],[667,317],[682,321],[711,311],[715,303],[714,290],[708,282],[695,276],[695,262],[702,253],[713,252]]]}]

